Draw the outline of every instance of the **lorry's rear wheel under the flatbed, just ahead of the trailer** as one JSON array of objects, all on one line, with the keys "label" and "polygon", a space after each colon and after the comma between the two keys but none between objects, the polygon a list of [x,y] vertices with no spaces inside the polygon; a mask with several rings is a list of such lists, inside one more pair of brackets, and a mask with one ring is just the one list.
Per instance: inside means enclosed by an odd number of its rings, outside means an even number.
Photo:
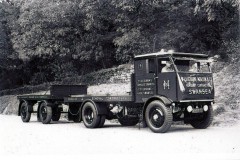
[{"label": "lorry's rear wheel under the flatbed, just ahead of the trailer", "polygon": [[96,108],[93,103],[87,102],[82,109],[83,123],[87,128],[97,128],[101,117],[97,115]]}]

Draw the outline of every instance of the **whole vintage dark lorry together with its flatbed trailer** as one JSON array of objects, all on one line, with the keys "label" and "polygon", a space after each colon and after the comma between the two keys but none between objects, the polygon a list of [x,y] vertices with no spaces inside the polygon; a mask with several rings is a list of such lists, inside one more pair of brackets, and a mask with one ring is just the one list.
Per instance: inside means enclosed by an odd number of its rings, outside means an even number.
[{"label": "whole vintage dark lorry together with its flatbed trailer", "polygon": [[29,122],[31,113],[43,124],[58,121],[67,105],[68,119],[83,121],[87,128],[118,119],[124,126],[142,122],[164,133],[173,121],[207,128],[213,120],[214,85],[207,55],[161,51],[134,57],[127,95],[88,95],[86,85],[53,85],[49,95],[18,99],[23,122]]}]

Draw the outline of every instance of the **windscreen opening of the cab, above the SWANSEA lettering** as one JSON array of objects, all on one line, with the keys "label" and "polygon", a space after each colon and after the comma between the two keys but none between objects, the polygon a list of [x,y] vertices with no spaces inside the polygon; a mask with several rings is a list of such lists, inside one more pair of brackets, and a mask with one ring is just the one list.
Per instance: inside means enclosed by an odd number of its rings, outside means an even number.
[{"label": "windscreen opening of the cab, above the SWANSEA lettering", "polygon": [[175,59],[174,63],[179,72],[209,73],[210,64],[203,60]]}]

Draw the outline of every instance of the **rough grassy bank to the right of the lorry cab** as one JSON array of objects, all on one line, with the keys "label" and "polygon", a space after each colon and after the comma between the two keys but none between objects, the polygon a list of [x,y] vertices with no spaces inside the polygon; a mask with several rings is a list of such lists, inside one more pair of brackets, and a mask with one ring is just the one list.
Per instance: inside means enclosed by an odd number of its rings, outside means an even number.
[{"label": "rough grassy bank to the right of the lorry cab", "polygon": [[214,125],[233,125],[240,120],[240,64],[230,64],[214,74]]}]

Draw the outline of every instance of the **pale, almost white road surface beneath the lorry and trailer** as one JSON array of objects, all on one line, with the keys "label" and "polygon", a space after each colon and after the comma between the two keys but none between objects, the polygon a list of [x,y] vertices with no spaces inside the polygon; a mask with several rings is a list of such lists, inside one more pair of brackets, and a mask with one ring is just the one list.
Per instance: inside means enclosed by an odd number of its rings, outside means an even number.
[{"label": "pale, almost white road surface beneath the lorry and trailer", "polygon": [[[23,123],[18,116],[0,115],[0,155],[87,154],[206,154],[221,159],[240,157],[240,124],[196,130],[173,125],[168,133],[148,128],[122,127],[106,122],[104,128],[86,129],[83,123],[61,119],[49,125],[32,117]],[[112,158],[111,158],[112,159]]]}]

